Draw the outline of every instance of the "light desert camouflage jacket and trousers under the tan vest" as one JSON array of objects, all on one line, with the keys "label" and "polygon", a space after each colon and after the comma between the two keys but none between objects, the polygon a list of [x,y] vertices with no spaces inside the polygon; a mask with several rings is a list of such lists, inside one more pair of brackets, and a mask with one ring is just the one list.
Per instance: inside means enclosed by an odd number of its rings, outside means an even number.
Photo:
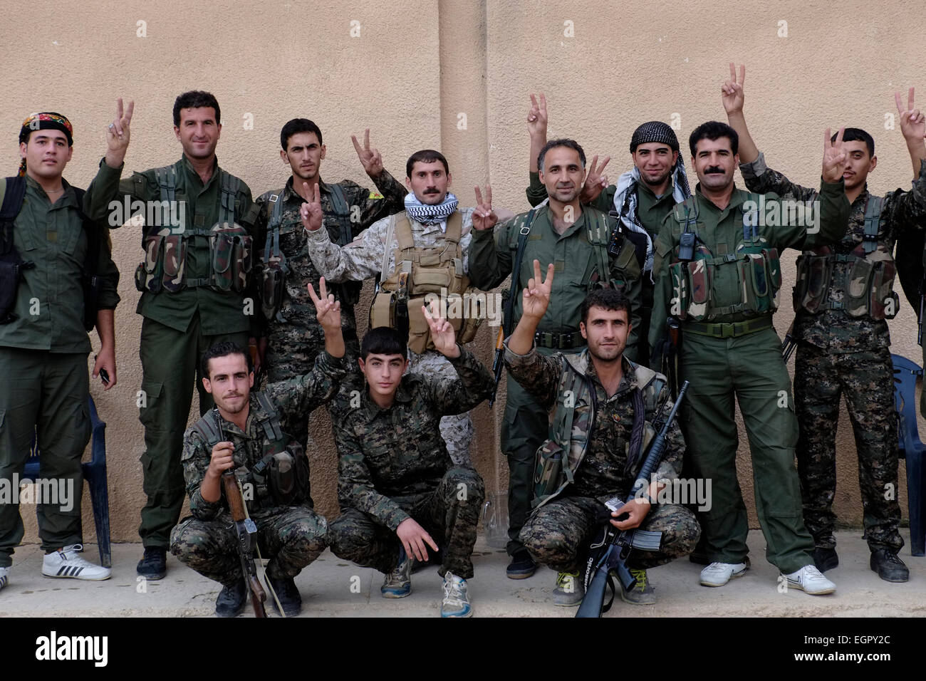
[{"label": "light desert camouflage jacket and trousers under the tan vest", "polygon": [[[463,271],[469,273],[468,253],[473,208],[459,210],[463,217],[459,246],[463,253]],[[389,222],[389,218],[384,218],[374,223],[344,247],[334,244],[327,230],[308,233],[308,255],[326,282],[362,282],[377,275],[382,276],[381,281],[385,281],[395,269],[395,249],[398,247],[394,233],[389,234],[389,246],[386,246]],[[441,225],[422,224],[410,216],[408,223],[416,246],[427,248],[443,241],[444,231]],[[428,350],[420,355],[410,352],[408,359],[408,373],[440,372],[448,378],[453,377],[446,359],[435,350]],[[441,420],[441,435],[454,463],[457,466],[469,466],[469,445],[473,436],[469,413],[444,417]]]}]

